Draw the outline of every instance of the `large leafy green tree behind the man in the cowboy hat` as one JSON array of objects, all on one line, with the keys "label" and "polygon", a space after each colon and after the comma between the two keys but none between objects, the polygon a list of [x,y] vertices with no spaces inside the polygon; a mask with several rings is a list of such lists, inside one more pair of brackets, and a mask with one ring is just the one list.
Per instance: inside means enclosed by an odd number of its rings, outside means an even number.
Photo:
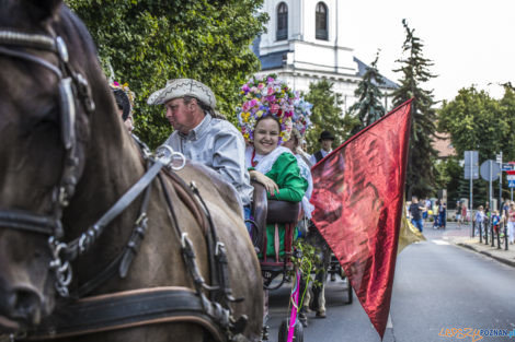
[{"label": "large leafy green tree behind the man in the cowboy hat", "polygon": [[[167,80],[196,79],[236,122],[240,86],[260,70],[250,45],[264,32],[263,0],[66,0],[96,43],[104,70],[136,93],[136,132],[156,146],[171,132],[148,96]],[[114,74],[111,74],[113,73]]]}]

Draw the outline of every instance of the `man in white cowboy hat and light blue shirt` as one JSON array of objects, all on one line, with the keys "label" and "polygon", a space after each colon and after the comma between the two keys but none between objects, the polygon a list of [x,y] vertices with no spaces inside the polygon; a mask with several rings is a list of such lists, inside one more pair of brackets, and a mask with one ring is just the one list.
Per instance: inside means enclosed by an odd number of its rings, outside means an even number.
[{"label": "man in white cowboy hat and light blue shirt", "polygon": [[229,121],[214,117],[216,98],[211,90],[192,79],[176,79],[150,95],[149,105],[164,105],[174,131],[164,144],[211,167],[234,186],[243,205],[249,205],[253,188],[245,167],[245,143]]}]

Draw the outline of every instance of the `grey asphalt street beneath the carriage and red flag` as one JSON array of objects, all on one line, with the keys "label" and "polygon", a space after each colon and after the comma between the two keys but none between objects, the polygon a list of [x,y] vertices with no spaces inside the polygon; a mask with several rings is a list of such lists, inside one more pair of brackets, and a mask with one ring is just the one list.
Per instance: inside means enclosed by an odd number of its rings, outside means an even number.
[{"label": "grey asphalt street beneath the carriage and red flag", "polygon": [[[426,228],[424,234],[427,241],[409,246],[398,258],[384,341],[472,341],[471,337],[459,340],[439,334],[453,328],[515,329],[515,268],[477,252],[473,248],[481,246],[469,238],[470,227],[458,229],[449,223],[446,231]],[[505,257],[513,253],[505,252]],[[309,314],[305,341],[380,341],[356,297],[352,305],[344,304],[344,287],[342,281],[329,283],[328,318]],[[271,294],[271,341],[277,341],[287,296],[286,287]]]}]

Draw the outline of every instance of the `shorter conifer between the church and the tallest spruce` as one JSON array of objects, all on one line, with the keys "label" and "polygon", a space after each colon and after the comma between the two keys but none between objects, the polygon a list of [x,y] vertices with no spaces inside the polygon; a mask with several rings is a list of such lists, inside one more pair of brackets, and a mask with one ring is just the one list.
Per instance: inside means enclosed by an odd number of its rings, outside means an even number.
[{"label": "shorter conifer between the church and the tallest spruce", "polygon": [[382,94],[379,90],[379,86],[385,84],[385,80],[377,70],[378,59],[379,52],[377,52],[371,64],[367,67],[363,80],[359,81],[357,89],[354,91],[354,95],[358,101],[348,108],[348,111],[359,119],[360,123],[353,129],[353,134],[385,116],[386,110],[381,102]]}]

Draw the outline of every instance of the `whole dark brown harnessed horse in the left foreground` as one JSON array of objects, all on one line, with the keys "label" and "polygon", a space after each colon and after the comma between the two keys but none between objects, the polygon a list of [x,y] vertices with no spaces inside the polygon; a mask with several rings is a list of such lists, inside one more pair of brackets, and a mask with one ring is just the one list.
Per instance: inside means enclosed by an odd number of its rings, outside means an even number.
[{"label": "whole dark brown harnessed horse in the left foreground", "polygon": [[[232,187],[187,163],[175,176],[159,172],[148,205],[142,190],[113,213],[147,167],[159,167],[146,165],[123,127],[95,54],[85,27],[61,1],[0,0],[0,335],[37,327],[59,335],[49,330],[59,327],[53,317],[60,312],[65,323],[93,321],[87,334],[68,330],[73,341],[259,340],[261,272]],[[213,225],[181,179],[195,181]],[[213,250],[222,256],[224,246],[227,269],[224,258],[208,260]],[[215,270],[226,278],[214,276]],[[161,315],[178,303],[179,315]],[[105,328],[98,317],[110,309],[85,315],[92,304],[119,305],[106,318],[119,325]],[[148,319],[128,317],[138,312]],[[238,334],[242,315],[249,320]]]}]

